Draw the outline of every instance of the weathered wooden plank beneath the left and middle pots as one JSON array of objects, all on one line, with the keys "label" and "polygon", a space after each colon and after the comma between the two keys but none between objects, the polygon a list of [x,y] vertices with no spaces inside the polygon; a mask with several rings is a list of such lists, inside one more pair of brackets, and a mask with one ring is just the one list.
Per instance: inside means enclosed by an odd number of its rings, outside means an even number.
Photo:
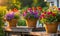
[{"label": "weathered wooden plank beneath the left and middle pots", "polygon": [[31,32],[32,31],[32,28],[28,28],[26,26],[12,27],[12,28],[4,27],[3,29],[4,31],[10,31],[10,32]]}]

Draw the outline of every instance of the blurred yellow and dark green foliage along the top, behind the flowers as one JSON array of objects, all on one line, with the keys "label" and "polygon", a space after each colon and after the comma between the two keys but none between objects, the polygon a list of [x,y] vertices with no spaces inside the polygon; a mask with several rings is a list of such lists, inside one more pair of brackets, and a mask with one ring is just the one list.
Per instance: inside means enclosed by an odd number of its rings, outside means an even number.
[{"label": "blurred yellow and dark green foliage along the top, behind the flowers", "polygon": [[41,6],[42,8],[47,7],[47,2],[44,0],[9,0],[7,2],[7,9],[13,9],[16,7],[17,9],[23,9],[25,7],[37,7]]}]

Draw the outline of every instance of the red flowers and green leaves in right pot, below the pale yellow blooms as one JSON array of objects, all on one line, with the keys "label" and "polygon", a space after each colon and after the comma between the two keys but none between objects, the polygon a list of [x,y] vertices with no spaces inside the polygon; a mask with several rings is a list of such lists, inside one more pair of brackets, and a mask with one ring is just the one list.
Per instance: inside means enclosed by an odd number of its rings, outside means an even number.
[{"label": "red flowers and green leaves in right pot, below the pale yellow blooms", "polygon": [[44,12],[40,15],[40,19],[43,20],[43,22],[56,22],[57,21],[57,13]]}]

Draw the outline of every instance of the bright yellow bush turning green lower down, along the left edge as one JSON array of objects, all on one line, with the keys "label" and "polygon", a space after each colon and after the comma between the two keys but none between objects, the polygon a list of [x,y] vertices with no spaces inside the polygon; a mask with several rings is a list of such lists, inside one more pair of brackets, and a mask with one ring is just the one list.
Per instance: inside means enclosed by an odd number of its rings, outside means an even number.
[{"label": "bright yellow bush turning green lower down, along the left edge", "polygon": [[0,6],[0,36],[4,36],[2,26],[4,26],[3,18],[4,18],[4,15],[6,14],[6,10],[7,9],[5,6]]}]

